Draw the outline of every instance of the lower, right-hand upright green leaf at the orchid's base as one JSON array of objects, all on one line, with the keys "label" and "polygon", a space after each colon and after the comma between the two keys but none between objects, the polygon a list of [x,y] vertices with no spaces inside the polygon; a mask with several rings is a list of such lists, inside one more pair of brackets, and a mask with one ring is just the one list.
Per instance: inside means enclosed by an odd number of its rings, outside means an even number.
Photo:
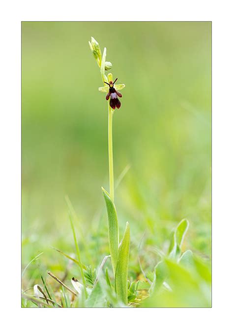
[{"label": "lower, right-hand upright green leaf at the orchid's base", "polygon": [[130,229],[129,223],[126,222],[126,228],[123,239],[119,246],[119,254],[117,261],[117,269],[115,275],[115,290],[118,298],[127,305],[127,278],[128,278],[128,265],[129,265],[129,246],[130,246]]}]

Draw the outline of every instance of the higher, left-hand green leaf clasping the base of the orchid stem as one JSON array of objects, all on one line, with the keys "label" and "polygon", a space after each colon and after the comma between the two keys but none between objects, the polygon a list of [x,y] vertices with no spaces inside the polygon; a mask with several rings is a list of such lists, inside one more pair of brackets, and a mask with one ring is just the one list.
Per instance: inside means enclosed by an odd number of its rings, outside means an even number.
[{"label": "higher, left-hand green leaf clasping the base of the orchid stem", "polygon": [[115,274],[118,259],[118,245],[119,245],[119,228],[117,221],[117,211],[109,193],[102,187],[104,199],[107,207],[108,221],[109,221],[109,249],[111,261],[113,265],[113,272]]}]

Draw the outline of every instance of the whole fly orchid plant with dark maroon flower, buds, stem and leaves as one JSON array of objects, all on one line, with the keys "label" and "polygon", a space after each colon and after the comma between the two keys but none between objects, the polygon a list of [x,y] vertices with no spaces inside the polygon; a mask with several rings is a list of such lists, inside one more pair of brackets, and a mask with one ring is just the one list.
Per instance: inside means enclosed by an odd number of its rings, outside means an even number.
[{"label": "whole fly orchid plant with dark maroon flower, buds, stem and leaves", "polygon": [[124,84],[115,84],[113,74],[109,73],[106,76],[105,72],[112,69],[112,63],[106,62],[107,50],[104,48],[103,56],[98,42],[91,37],[89,46],[92,54],[100,68],[100,74],[103,84],[99,87],[99,91],[106,93],[108,102],[108,153],[109,153],[109,193],[102,187],[104,199],[108,213],[108,230],[109,230],[109,249],[113,266],[115,291],[119,299],[125,304],[128,304],[127,297],[127,278],[128,278],[128,263],[129,263],[129,245],[130,245],[130,230],[129,223],[126,222],[124,236],[119,244],[119,228],[117,220],[117,211],[114,204],[114,170],[113,170],[113,114],[116,108],[119,109],[121,103],[118,97],[122,97],[119,90],[125,87]]}]

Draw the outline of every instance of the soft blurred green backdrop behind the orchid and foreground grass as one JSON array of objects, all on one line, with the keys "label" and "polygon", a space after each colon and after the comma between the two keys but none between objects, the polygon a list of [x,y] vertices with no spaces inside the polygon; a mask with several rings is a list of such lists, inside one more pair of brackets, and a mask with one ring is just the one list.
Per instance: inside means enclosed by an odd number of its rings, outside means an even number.
[{"label": "soft blurred green backdrop behind the orchid and foreground grass", "polygon": [[126,85],[113,139],[115,179],[130,165],[115,203],[120,236],[131,226],[132,279],[144,233],[145,248],[164,250],[183,218],[185,248],[211,256],[211,23],[23,22],[22,267],[43,252],[23,289],[47,269],[64,272],[67,260],[50,246],[74,252],[65,195],[84,262],[108,254],[108,110],[91,36]]}]

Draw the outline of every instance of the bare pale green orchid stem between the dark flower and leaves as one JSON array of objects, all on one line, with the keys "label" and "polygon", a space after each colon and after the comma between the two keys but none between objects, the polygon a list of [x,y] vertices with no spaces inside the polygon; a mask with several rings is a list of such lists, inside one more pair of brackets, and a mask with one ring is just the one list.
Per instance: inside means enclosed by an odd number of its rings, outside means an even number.
[{"label": "bare pale green orchid stem between the dark flower and leaves", "polygon": [[108,141],[109,141],[109,186],[110,197],[114,203],[114,173],[113,173],[113,111],[108,102],[109,120],[108,120]]}]

